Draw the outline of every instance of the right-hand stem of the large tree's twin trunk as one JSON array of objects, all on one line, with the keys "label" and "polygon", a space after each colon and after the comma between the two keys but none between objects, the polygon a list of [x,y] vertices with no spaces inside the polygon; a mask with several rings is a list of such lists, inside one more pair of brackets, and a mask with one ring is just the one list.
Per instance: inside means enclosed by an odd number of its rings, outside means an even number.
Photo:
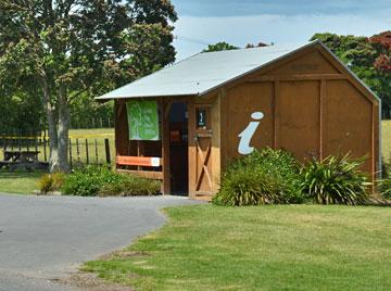
[{"label": "right-hand stem of the large tree's twin trunk", "polygon": [[70,107],[66,97],[66,90],[61,88],[59,92],[59,127],[58,127],[58,154],[59,169],[68,172],[68,139],[70,139]]}]

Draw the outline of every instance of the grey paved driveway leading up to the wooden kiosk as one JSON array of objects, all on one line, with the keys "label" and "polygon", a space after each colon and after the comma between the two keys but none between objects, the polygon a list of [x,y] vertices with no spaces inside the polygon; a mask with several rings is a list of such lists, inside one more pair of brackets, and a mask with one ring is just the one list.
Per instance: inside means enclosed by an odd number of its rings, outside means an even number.
[{"label": "grey paved driveway leading up to the wooden kiosk", "polygon": [[[0,195],[0,290],[73,290],[63,278],[86,261],[129,245],[163,225],[160,208],[198,203],[180,197]],[[55,289],[58,288],[58,289]]]}]

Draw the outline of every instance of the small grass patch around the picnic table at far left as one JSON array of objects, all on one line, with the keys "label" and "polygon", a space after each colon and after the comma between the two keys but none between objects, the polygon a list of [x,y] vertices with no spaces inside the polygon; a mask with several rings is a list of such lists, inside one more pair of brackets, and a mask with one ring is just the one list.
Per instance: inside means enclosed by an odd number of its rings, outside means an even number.
[{"label": "small grass patch around the picnic table at far left", "polygon": [[37,190],[37,184],[43,172],[0,170],[0,192],[30,194]]}]

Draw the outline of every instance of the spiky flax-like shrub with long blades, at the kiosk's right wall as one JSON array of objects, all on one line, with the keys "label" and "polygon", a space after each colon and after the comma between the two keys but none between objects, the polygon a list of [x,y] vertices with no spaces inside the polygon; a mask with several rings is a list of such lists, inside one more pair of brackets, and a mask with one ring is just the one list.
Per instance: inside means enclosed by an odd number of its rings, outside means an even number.
[{"label": "spiky flax-like shrub with long blades, at the kiosk's right wall", "polygon": [[358,167],[364,159],[328,156],[313,160],[301,170],[301,191],[320,204],[356,205],[368,198],[368,178]]}]

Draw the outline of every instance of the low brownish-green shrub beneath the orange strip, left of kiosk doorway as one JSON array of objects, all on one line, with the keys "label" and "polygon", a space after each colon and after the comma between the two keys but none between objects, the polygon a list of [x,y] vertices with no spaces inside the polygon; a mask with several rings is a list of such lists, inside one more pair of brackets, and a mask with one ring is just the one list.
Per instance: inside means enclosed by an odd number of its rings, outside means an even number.
[{"label": "low brownish-green shrub beneath the orange strip, left of kiosk doorway", "polygon": [[154,195],[161,190],[160,181],[140,178],[131,175],[123,175],[121,182],[110,182],[102,187],[99,195]]}]

